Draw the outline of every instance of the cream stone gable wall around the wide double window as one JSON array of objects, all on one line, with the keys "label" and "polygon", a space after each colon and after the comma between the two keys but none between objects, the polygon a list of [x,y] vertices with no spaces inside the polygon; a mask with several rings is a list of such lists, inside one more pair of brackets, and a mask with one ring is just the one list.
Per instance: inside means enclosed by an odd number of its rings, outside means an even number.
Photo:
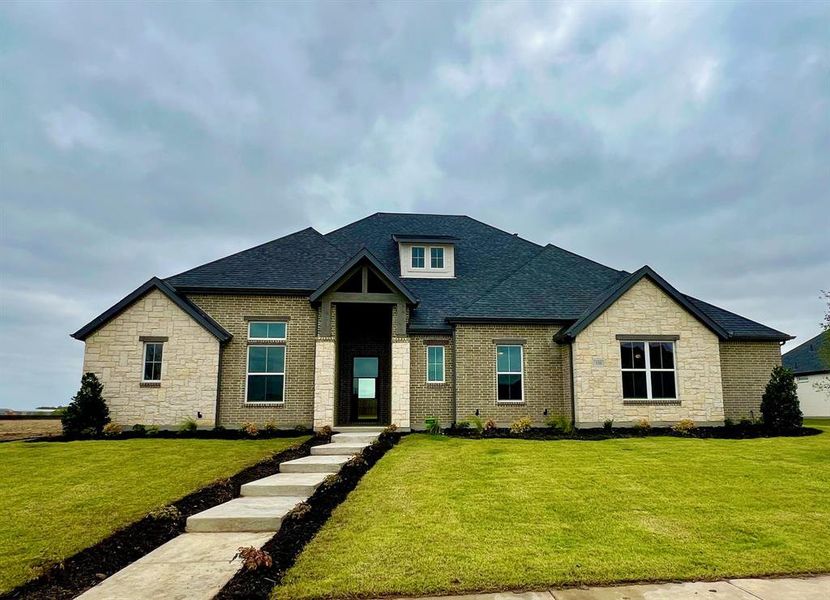
[{"label": "cream stone gable wall around the wide double window", "polygon": [[[679,406],[623,404],[618,334],[680,336],[675,342]],[[606,419],[624,426],[640,418],[652,425],[723,422],[718,337],[647,279],[577,336],[573,361],[577,426],[598,426]]]}]

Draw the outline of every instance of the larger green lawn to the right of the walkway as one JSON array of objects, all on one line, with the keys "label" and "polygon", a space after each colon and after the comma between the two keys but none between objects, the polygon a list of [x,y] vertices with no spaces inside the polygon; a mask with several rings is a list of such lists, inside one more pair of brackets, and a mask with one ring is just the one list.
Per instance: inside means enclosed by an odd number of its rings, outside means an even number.
[{"label": "larger green lawn to the right of the walkway", "polygon": [[[810,425],[819,425],[811,422]],[[830,423],[803,438],[404,438],[276,598],[830,571]]]}]

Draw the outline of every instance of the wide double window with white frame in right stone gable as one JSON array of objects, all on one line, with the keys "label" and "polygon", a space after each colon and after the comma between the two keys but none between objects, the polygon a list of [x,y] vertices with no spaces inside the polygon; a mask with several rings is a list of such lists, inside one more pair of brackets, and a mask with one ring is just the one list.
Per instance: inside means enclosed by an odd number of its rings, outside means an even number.
[{"label": "wide double window with white frame in right stone gable", "polygon": [[623,398],[674,400],[674,342],[620,342]]}]

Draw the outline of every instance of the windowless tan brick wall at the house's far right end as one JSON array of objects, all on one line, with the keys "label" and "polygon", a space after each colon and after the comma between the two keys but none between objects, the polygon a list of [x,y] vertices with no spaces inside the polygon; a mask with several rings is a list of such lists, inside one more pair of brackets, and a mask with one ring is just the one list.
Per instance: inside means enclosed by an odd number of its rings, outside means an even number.
[{"label": "windowless tan brick wall at the house's far right end", "polygon": [[761,416],[761,396],[773,367],[781,364],[778,342],[721,342],[723,409],[727,418]]}]

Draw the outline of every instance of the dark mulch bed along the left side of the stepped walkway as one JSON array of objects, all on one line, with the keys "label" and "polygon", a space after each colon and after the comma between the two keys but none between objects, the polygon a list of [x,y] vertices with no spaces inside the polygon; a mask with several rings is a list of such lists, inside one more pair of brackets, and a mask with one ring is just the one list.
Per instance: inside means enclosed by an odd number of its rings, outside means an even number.
[{"label": "dark mulch bed along the left side of the stepped walkway", "polygon": [[310,454],[312,446],[328,443],[329,437],[314,437],[252,465],[229,479],[217,481],[156,511],[101,542],[81,550],[6,594],[0,600],[62,600],[74,598],[120,571],[184,531],[187,517],[239,496],[244,483],[279,472],[279,464]]}]

